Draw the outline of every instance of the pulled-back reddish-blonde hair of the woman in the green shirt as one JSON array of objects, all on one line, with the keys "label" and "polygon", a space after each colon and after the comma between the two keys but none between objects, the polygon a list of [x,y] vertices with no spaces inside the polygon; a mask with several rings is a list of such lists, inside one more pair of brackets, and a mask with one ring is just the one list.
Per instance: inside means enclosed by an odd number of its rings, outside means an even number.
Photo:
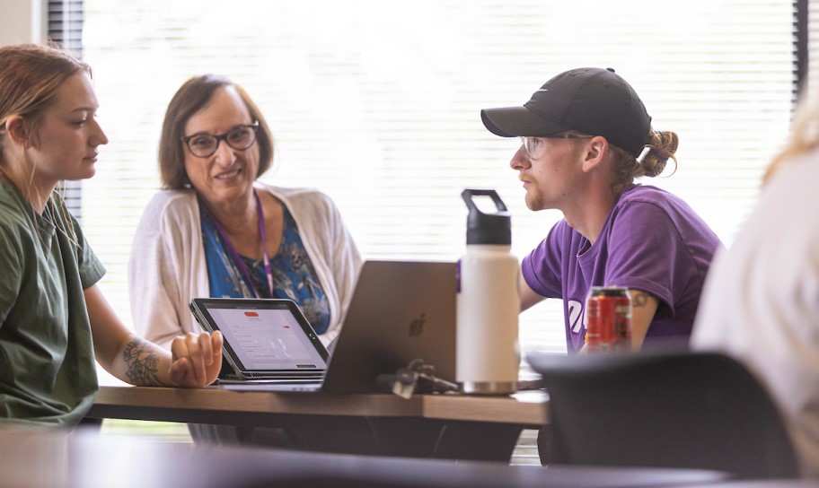
[{"label": "pulled-back reddish-blonde hair of the woman in the green shirt", "polygon": [[[30,181],[33,179],[36,168],[26,161],[25,154],[10,154],[12,148],[6,144],[5,121],[13,115],[21,115],[26,121],[26,132],[36,142],[43,111],[51,106],[60,87],[81,72],[90,76],[91,67],[60,48],[35,44],[0,48],[0,171],[11,170],[10,160],[23,161],[23,164],[31,166],[29,178]],[[20,190],[23,194],[31,193],[31,187]],[[63,220],[70,222],[66,203],[57,188],[52,199]],[[59,231],[78,245],[74,228],[63,229],[58,222],[54,223]],[[37,234],[40,235],[40,232]]]}]

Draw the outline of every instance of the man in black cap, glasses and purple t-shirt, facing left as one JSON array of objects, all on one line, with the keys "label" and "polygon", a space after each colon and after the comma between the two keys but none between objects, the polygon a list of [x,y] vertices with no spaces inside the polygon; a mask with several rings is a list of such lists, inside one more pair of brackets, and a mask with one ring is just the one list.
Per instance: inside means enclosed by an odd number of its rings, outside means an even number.
[{"label": "man in black cap, glasses and purple t-shirt, facing left", "polygon": [[656,132],[638,95],[614,70],[558,74],[523,107],[484,109],[496,135],[521,137],[510,166],[534,211],[564,219],[524,257],[521,309],[563,300],[568,352],[586,340],[592,286],[628,288],[631,340],[687,343],[718,237],[679,197],[634,183],[674,159],[678,138]]}]

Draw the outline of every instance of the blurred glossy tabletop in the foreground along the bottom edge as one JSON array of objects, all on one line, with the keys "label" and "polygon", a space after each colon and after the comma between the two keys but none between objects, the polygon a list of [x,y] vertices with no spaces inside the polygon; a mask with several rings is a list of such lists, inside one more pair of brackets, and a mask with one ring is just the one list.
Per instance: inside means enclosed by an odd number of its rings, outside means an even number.
[{"label": "blurred glossy tabletop in the foreground along the bottom edge", "polygon": [[691,486],[725,478],[691,469],[504,466],[0,429],[3,488],[603,488]]}]

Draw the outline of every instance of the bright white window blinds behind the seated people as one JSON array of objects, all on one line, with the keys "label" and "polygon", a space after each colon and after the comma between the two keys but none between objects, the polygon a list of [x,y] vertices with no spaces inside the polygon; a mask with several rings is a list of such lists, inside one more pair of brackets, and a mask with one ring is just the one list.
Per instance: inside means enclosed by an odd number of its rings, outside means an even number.
[{"label": "bright white window blinds behind the seated people", "polygon": [[[615,68],[654,126],[680,135],[676,173],[642,182],[682,196],[729,244],[794,100],[795,7],[779,0],[84,4],[110,144],[83,183],[82,214],[126,321],[163,112],[192,75],[224,74],[251,93],[277,144],[262,179],[327,192],[365,257],[459,257],[465,187],[498,190],[524,257],[560,215],[525,208],[508,167],[516,140],[491,135],[480,109],[521,104],[585,65]],[[562,321],[559,301],[525,312],[523,352],[565,351]]]}]

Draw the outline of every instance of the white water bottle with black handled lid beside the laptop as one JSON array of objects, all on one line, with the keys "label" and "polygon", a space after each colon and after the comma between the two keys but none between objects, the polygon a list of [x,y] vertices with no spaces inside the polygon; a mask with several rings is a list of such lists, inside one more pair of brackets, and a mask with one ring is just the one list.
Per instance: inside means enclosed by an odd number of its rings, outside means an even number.
[{"label": "white water bottle with black handled lid beside the laptop", "polygon": [[[495,190],[463,190],[469,207],[466,254],[458,261],[455,376],[463,393],[517,391],[520,350],[520,266],[510,252],[512,219]],[[480,211],[473,196],[489,196],[497,212]]]}]

